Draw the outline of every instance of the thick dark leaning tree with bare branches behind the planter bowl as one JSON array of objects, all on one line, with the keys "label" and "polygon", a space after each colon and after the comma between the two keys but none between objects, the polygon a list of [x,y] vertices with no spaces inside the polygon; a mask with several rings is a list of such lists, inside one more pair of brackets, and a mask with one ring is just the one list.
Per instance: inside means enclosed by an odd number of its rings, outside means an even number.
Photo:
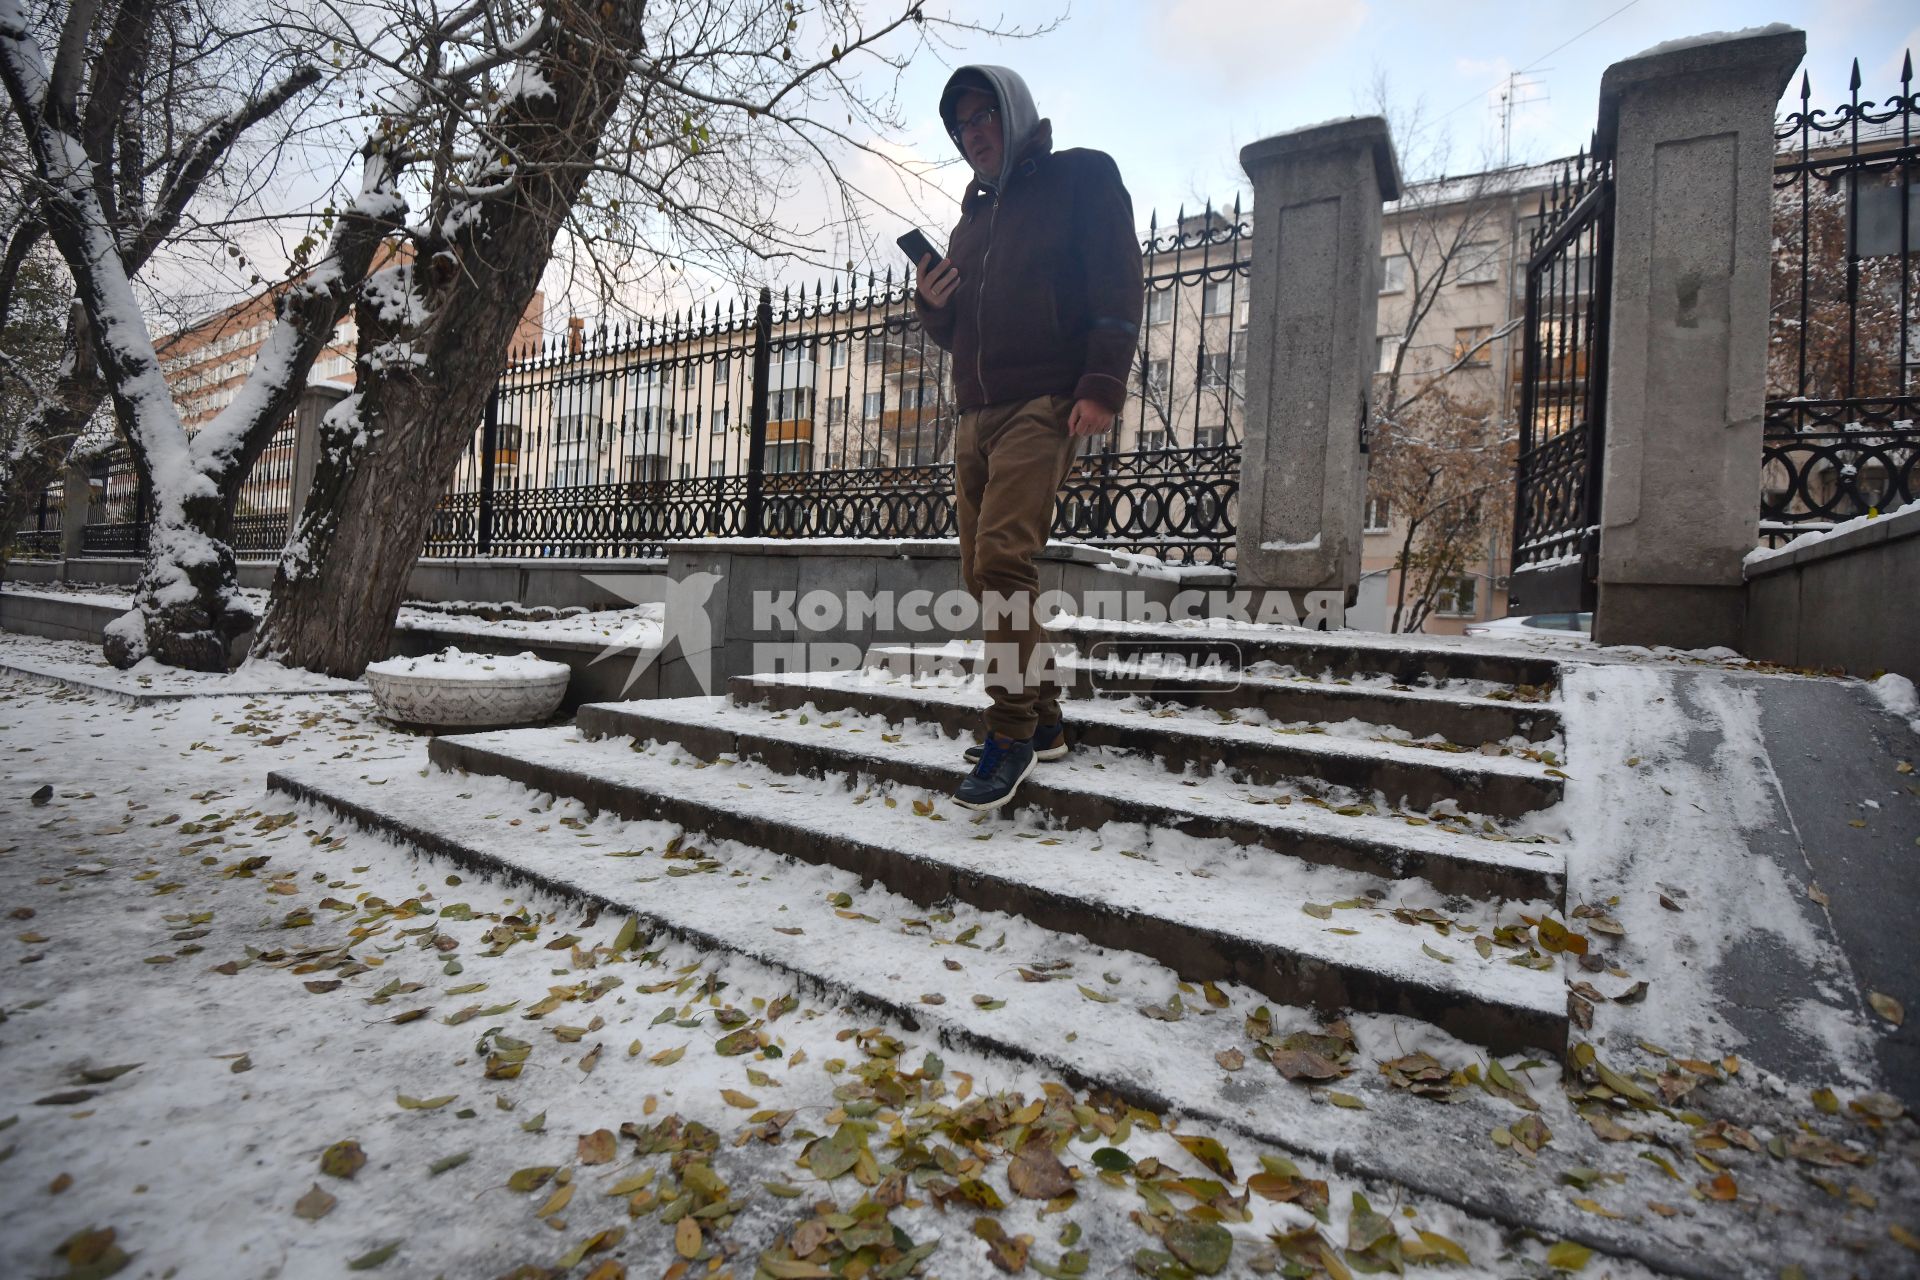
[{"label": "thick dark leaning tree with bare branches behind the planter bowl", "polygon": [[[419,25],[411,6],[396,0],[386,25]],[[557,244],[603,296],[632,286],[636,257],[643,274],[799,253],[781,221],[793,180],[824,175],[858,198],[841,157],[881,154],[852,129],[899,123],[849,61],[899,71],[906,56],[883,50],[937,25],[906,4],[866,29],[856,0],[804,15],[762,0],[553,4],[518,29],[463,13],[468,25],[442,27],[470,65],[492,61],[484,77],[417,69],[405,38],[361,50],[419,86],[397,115],[432,148],[426,207],[403,230],[405,261],[361,290],[355,393],[323,424],[255,643],[280,662],[357,676],[384,654],[434,503]]]}]

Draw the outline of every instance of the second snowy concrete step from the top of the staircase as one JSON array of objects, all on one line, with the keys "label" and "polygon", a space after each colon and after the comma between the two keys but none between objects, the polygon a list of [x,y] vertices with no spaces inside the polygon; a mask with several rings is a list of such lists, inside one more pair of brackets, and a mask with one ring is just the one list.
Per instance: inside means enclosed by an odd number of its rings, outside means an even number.
[{"label": "second snowy concrete step from the top of the staircase", "polygon": [[[1096,643],[1100,647],[1102,643]],[[1413,737],[1440,735],[1463,747],[1559,739],[1559,710],[1540,702],[1490,699],[1419,689],[1375,677],[1377,683],[1334,683],[1311,676],[1263,676],[1233,666],[1154,664],[1156,652],[1091,658],[1075,654],[1056,662],[1068,697],[1148,697],[1156,702],[1219,712],[1256,712],[1277,723],[1325,723],[1363,720],[1404,729]],[[979,647],[876,645],[868,666],[900,676],[979,672]],[[1361,677],[1365,679],[1365,677]],[[1455,681],[1465,683],[1465,681]]]}]

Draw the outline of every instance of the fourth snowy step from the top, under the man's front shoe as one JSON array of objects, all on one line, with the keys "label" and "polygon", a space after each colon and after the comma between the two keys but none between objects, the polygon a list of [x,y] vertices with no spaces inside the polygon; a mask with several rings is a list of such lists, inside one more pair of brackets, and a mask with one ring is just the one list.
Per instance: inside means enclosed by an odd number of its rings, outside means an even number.
[{"label": "fourth snowy step from the top, under the man's front shoe", "polygon": [[[588,706],[578,729],[584,737],[680,743],[701,760],[732,754],[783,773],[874,777],[931,793],[950,793],[966,775],[962,750],[970,741],[924,723],[887,733],[887,720],[854,712],[803,723],[793,712],[710,699]],[[1469,829],[1465,819],[1446,829],[1411,814],[1342,814],[1336,810],[1361,806],[1219,777],[1175,777],[1152,762],[1098,747],[1077,747],[1064,762],[1037,766],[1016,806],[1048,827],[1091,831],[1139,823],[1221,837],[1382,881],[1423,879],[1444,894],[1546,902],[1555,912],[1565,902],[1559,844],[1488,835]]]}]

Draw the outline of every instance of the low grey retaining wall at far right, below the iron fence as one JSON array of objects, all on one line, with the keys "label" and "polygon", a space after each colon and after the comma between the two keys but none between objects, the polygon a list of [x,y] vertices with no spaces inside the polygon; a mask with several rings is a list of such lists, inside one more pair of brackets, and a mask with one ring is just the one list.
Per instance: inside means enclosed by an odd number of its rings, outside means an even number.
[{"label": "low grey retaining wall at far right, below the iron fence", "polygon": [[1747,656],[1920,679],[1920,507],[1747,566]]}]

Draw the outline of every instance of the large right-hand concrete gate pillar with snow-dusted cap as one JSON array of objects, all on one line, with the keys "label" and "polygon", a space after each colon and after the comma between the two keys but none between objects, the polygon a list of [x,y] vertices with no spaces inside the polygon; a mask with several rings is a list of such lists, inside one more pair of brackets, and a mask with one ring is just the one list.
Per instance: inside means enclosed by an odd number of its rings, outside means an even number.
[{"label": "large right-hand concrete gate pillar with snow-dusted cap", "polygon": [[1774,107],[1791,29],[1607,67],[1613,319],[1594,637],[1738,649],[1759,541]]}]

